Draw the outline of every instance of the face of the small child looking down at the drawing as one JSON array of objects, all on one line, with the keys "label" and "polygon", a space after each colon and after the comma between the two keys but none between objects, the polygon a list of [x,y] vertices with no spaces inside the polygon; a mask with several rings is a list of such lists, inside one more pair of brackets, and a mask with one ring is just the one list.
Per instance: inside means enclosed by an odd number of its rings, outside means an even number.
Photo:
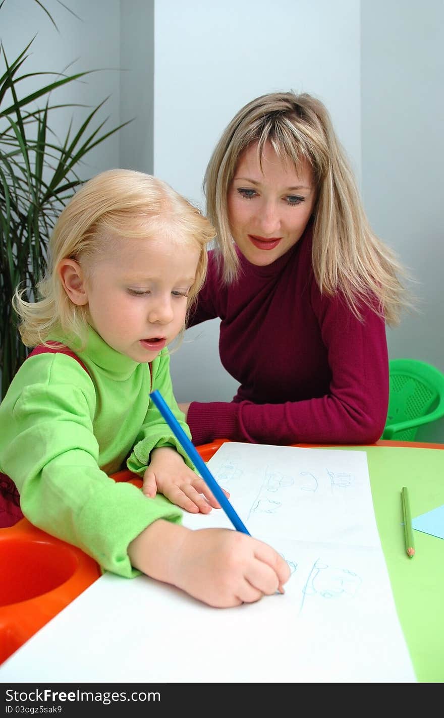
[{"label": "face of the small child looking down at the drawing", "polygon": [[91,326],[116,351],[150,362],[185,324],[200,248],[156,238],[119,238],[91,261],[85,281]]}]

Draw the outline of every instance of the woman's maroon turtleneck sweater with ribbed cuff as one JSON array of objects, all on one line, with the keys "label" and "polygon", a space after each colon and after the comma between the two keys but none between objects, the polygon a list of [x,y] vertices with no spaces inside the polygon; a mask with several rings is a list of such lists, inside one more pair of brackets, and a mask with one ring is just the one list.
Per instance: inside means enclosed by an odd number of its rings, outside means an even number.
[{"label": "woman's maroon turtleneck sweater with ribbed cuff", "polygon": [[384,321],[371,307],[361,308],[359,321],[340,296],[320,294],[311,246],[309,228],[269,266],[239,253],[239,279],[228,286],[209,253],[189,325],[221,318],[221,362],[241,386],[231,402],[192,402],[194,444],[371,444],[381,437],[389,400]]}]

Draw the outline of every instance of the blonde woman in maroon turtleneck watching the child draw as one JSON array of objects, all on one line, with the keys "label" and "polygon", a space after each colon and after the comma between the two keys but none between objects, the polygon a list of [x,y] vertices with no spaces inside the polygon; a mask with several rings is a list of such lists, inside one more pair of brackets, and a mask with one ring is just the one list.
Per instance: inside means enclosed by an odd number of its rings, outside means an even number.
[{"label": "blonde woman in maroon turtleneck watching the child draw", "polygon": [[369,228],[325,106],[251,101],[204,186],[217,244],[189,325],[221,318],[221,362],[240,386],[231,402],[180,405],[193,442],[375,442],[402,268]]}]

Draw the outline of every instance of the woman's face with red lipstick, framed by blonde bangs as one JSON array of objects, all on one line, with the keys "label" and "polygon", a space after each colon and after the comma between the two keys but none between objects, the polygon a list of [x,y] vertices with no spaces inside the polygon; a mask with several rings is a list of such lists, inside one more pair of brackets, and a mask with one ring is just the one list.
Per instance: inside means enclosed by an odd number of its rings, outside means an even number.
[{"label": "woman's face with red lipstick, framed by blonde bangs", "polygon": [[268,142],[261,169],[255,142],[239,157],[227,199],[234,241],[251,264],[267,266],[294,246],[305,230],[316,199],[313,172],[306,161],[296,172]]}]

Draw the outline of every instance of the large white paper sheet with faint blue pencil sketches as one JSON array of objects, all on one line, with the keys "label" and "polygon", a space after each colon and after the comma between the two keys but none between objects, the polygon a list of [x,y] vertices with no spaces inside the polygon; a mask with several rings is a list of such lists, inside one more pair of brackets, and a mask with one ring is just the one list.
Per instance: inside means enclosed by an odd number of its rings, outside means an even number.
[{"label": "large white paper sheet with faint blue pencil sketches", "polygon": [[[376,530],[365,452],[223,444],[208,463],[285,595],[213,609],[106,574],[0,668],[2,681],[415,681]],[[185,526],[231,522],[221,510]]]}]

